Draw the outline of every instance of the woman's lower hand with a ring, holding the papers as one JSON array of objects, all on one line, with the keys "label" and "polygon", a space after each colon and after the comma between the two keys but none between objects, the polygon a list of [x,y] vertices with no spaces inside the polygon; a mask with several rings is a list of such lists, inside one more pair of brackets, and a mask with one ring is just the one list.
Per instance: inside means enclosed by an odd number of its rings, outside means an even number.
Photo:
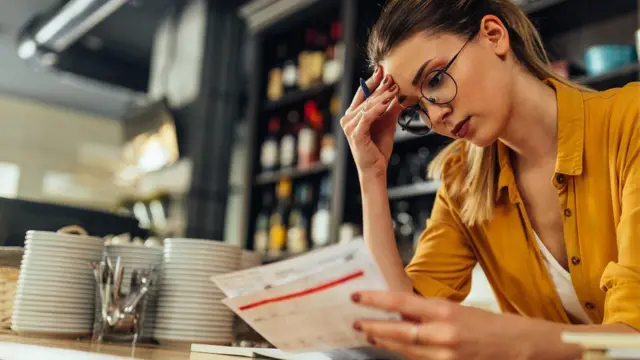
[{"label": "woman's lower hand with a ring, holding the papers", "polygon": [[533,347],[522,331],[527,319],[517,315],[409,293],[360,292],[353,301],[403,316],[401,321],[363,319],[354,328],[373,345],[407,359],[527,359]]}]

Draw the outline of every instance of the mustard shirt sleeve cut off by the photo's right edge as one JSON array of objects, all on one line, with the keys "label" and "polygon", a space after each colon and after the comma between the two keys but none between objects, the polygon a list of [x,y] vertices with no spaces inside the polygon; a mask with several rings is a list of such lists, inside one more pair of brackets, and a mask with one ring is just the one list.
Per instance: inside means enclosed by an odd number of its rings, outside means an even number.
[{"label": "mustard shirt sleeve cut off by the photo's right edge", "polygon": [[[600,286],[606,292],[604,324],[622,323],[640,331],[640,92],[624,111],[617,162],[621,215],[617,226],[618,261],[605,268]],[[634,103],[635,102],[635,103]]]}]

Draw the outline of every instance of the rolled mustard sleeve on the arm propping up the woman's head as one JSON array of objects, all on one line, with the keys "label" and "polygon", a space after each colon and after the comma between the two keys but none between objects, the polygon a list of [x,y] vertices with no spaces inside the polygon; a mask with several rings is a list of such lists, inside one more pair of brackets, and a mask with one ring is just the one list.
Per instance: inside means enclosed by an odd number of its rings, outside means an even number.
[{"label": "rolled mustard sleeve on the arm propping up the woman's head", "polygon": [[405,270],[422,296],[461,302],[471,290],[476,257],[444,188],[438,190],[427,228]]}]

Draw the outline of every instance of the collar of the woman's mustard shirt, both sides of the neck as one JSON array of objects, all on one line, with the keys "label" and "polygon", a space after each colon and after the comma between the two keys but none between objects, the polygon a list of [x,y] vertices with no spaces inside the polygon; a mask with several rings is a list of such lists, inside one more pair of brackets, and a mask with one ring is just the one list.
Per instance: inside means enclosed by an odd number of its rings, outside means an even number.
[{"label": "collar of the woman's mustard shirt, both sides of the neck", "polygon": [[[556,91],[558,102],[558,157],[556,173],[581,175],[584,156],[584,99],[580,90],[565,85],[558,80],[544,81]],[[503,189],[508,188],[511,202],[516,202],[515,177],[511,168],[509,148],[498,141],[498,189],[496,201],[500,200]]]}]

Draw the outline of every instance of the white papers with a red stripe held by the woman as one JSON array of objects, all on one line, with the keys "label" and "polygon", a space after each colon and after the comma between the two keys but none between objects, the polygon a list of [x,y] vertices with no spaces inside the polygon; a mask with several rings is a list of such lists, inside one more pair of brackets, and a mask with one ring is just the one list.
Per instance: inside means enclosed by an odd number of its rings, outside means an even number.
[{"label": "white papers with a red stripe held by the woman", "polygon": [[353,330],[354,321],[400,318],[351,301],[356,291],[389,289],[362,241],[212,280],[228,296],[224,304],[285,352],[325,352],[331,358],[348,354],[353,359],[380,356]]}]

